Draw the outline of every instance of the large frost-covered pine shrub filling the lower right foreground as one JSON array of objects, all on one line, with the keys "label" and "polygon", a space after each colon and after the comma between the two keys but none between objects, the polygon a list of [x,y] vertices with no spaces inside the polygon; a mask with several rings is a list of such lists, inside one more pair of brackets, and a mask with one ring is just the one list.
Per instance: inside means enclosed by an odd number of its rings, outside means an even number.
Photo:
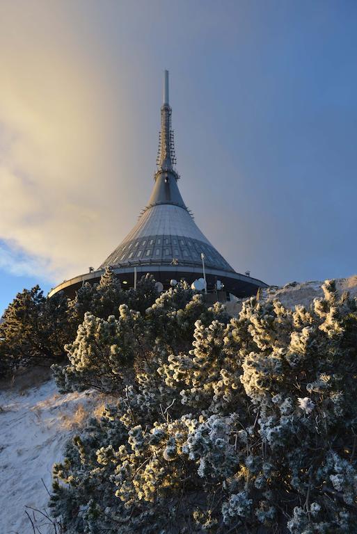
[{"label": "large frost-covered pine shrub filling the lower right foreground", "polygon": [[65,387],[104,367],[118,403],[54,469],[66,532],[356,532],[357,307],[323,289],[229,320],[183,284],[121,324],[86,316]]}]

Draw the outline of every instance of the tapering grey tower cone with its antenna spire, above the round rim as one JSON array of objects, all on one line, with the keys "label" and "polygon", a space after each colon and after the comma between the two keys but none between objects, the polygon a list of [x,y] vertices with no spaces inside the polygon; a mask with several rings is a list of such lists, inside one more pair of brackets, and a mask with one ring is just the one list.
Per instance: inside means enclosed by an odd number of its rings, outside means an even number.
[{"label": "tapering grey tower cone with its antenna spire, above the round rim", "polygon": [[234,273],[234,269],[209,243],[182,200],[174,169],[175,149],[168,104],[168,71],[164,76],[164,102],[161,106],[161,132],[157,172],[149,204],[138,223],[102,263],[100,269],[135,265],[201,266],[201,254],[209,268]]}]

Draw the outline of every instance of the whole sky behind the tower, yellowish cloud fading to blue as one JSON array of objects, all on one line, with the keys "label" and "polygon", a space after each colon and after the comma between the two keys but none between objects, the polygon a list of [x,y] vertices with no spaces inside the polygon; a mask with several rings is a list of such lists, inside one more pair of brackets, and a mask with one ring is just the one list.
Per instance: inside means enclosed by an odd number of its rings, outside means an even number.
[{"label": "whole sky behind the tower, yellowish cloud fading to blue", "polygon": [[3,0],[0,310],[136,223],[164,69],[182,197],[235,270],[355,274],[356,22],[343,0]]}]

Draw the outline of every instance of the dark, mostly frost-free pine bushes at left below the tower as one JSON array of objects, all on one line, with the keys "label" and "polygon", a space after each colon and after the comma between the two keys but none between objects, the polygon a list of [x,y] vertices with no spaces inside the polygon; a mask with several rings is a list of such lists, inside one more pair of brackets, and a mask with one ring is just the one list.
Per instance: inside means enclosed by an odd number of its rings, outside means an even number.
[{"label": "dark, mostly frost-free pine bushes at left below the tower", "polygon": [[96,318],[119,318],[120,305],[129,305],[145,314],[157,298],[154,284],[153,277],[145,275],[137,291],[124,291],[113,270],[106,268],[98,284],[84,284],[72,301],[62,292],[47,299],[39,286],[24,289],[8,306],[0,325],[0,378],[19,366],[63,360],[64,347],[76,337],[87,312]]}]

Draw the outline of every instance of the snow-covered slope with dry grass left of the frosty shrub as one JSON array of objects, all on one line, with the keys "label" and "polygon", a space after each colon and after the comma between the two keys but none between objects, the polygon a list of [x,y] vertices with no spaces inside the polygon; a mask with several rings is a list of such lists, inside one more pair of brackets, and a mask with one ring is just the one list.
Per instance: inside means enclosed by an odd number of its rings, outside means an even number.
[{"label": "snow-covered slope with dry grass left of the frosty shrub", "polygon": [[[94,392],[58,394],[53,380],[24,392],[0,391],[1,534],[33,533],[25,506],[47,508],[52,465],[95,403]],[[42,534],[51,532],[44,517],[36,518]]]}]

